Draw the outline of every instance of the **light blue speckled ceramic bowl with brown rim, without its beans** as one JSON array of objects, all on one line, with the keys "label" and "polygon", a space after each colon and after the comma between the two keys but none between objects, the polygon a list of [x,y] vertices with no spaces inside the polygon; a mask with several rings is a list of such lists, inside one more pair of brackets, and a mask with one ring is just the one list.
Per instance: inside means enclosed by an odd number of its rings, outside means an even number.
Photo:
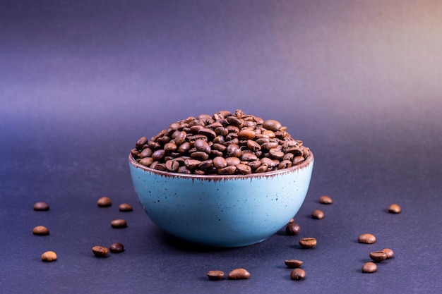
[{"label": "light blue speckled ceramic bowl with brown rim, without its beans", "polygon": [[149,169],[129,154],[138,200],[162,230],[213,247],[259,243],[297,214],[309,189],[313,154],[289,169],[198,176]]}]

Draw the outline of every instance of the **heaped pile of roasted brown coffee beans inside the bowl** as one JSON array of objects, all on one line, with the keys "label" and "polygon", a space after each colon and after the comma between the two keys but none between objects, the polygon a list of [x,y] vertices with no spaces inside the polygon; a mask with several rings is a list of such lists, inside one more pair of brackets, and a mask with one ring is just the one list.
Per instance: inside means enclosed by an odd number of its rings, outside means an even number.
[{"label": "heaped pile of roasted brown coffee beans inside the bowl", "polygon": [[251,174],[301,164],[310,150],[287,127],[238,109],[185,118],[131,149],[139,164],[170,173]]}]

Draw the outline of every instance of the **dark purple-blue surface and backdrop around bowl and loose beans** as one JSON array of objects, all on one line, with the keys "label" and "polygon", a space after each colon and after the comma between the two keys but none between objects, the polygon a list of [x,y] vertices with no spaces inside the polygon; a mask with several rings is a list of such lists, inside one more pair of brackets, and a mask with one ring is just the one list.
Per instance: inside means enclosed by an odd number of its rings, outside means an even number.
[{"label": "dark purple-blue surface and backdrop around bowl and loose beans", "polygon": [[[1,1],[0,292],[439,293],[441,53],[440,1]],[[136,140],[224,109],[277,119],[313,150],[299,235],[194,247],[138,204]],[[92,255],[115,241],[125,252]],[[395,256],[362,274],[384,247]],[[304,281],[285,259],[304,261]],[[238,267],[251,278],[205,276]]]}]

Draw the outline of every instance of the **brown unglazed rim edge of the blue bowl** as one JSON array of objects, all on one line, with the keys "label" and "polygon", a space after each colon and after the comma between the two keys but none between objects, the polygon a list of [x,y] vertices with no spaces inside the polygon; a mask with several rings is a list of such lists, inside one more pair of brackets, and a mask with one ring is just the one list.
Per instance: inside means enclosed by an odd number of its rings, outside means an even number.
[{"label": "brown unglazed rim edge of the blue bowl", "polygon": [[157,169],[150,169],[148,166],[143,166],[139,164],[129,152],[129,164],[137,169],[147,171],[149,173],[155,173],[159,176],[165,176],[167,178],[189,178],[192,180],[234,180],[234,179],[253,179],[253,178],[273,178],[274,176],[281,176],[285,173],[292,173],[294,171],[304,169],[313,163],[313,153],[309,150],[309,156],[295,166],[291,166],[287,169],[278,169],[276,171],[266,171],[265,173],[249,173],[248,175],[219,175],[219,174],[209,174],[209,175],[196,175],[193,173],[172,173],[170,171],[159,171]]}]

